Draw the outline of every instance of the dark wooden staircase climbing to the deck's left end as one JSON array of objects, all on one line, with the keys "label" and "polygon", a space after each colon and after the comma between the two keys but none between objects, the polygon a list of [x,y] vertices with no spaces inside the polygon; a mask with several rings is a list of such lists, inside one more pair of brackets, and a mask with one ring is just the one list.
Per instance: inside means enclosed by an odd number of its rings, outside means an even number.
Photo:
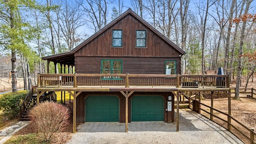
[{"label": "dark wooden staircase climbing to the deck's left end", "polygon": [[[30,120],[29,110],[36,105],[37,99],[37,86],[33,86],[28,92],[26,98],[24,99],[22,105],[20,106],[20,120]],[[55,92],[44,92],[39,98],[39,102],[44,101],[56,101]]]}]

